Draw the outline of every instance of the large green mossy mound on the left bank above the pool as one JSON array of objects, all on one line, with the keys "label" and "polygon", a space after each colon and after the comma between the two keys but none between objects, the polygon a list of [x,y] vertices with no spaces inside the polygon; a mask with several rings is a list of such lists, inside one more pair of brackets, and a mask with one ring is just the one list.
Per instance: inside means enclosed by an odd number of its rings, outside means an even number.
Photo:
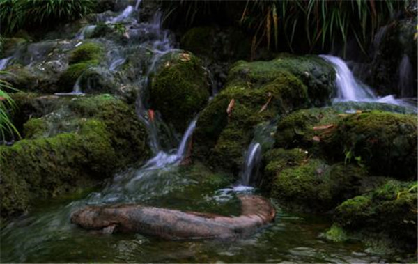
[{"label": "large green mossy mound on the left bank above the pool", "polygon": [[24,124],[26,139],[0,146],[1,217],[19,215],[34,199],[91,186],[148,157],[146,130],[121,100],[99,95],[60,103]]}]

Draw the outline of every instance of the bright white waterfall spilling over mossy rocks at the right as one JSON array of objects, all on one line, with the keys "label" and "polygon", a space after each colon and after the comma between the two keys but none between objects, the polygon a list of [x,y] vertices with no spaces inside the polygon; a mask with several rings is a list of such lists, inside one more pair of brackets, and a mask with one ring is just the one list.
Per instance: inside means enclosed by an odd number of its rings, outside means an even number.
[{"label": "bright white waterfall spilling over mossy rocks at the right", "polygon": [[378,97],[369,86],[359,83],[345,61],[336,56],[320,55],[325,61],[334,65],[336,71],[336,98],[334,102],[381,102],[401,106],[410,106],[403,100],[396,99],[394,95]]}]

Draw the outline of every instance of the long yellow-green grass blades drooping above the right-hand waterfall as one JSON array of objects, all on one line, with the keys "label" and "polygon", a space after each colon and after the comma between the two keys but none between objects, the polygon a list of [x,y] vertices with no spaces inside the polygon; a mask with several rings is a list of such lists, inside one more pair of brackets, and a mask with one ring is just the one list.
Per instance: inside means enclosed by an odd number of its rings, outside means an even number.
[{"label": "long yellow-green grass blades drooping above the right-hand waterfall", "polygon": [[304,32],[312,50],[337,40],[344,45],[353,36],[363,52],[379,26],[389,20],[394,10],[405,8],[407,0],[248,0],[242,12],[241,24],[254,31],[253,49],[265,38],[268,49],[272,40],[277,48],[281,29],[288,47],[293,52],[294,39]]}]

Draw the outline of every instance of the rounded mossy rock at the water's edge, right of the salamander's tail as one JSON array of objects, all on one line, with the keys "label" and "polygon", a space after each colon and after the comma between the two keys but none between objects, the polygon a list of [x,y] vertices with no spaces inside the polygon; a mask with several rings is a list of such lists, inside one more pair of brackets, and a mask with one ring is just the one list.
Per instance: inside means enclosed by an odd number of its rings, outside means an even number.
[{"label": "rounded mossy rock at the water's edge, right of the salamander's tail", "polygon": [[326,212],[359,194],[366,171],[352,164],[307,160],[277,173],[272,196],[294,210]]}]

